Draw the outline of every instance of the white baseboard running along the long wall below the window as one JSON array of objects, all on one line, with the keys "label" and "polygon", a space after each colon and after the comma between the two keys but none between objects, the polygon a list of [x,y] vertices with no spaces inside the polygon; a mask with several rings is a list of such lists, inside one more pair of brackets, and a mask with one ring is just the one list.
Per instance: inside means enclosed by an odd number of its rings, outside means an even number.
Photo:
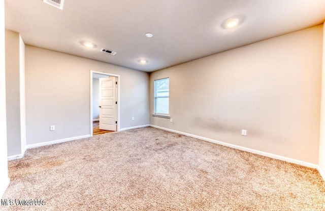
[{"label": "white baseboard running along the long wall below the window", "polygon": [[310,167],[310,168],[317,168],[318,167],[317,164],[305,162],[305,161],[302,161],[302,160],[297,160],[297,159],[284,157],[284,156],[280,156],[280,155],[276,155],[276,154],[272,154],[272,153],[268,153],[268,152],[258,151],[258,150],[250,149],[250,148],[246,148],[246,147],[241,147],[241,146],[238,146],[238,145],[235,145],[235,144],[229,144],[229,143],[225,143],[225,142],[221,142],[221,141],[217,141],[217,140],[213,140],[213,139],[208,139],[208,138],[201,137],[201,136],[196,136],[196,135],[192,135],[192,134],[188,134],[188,133],[183,133],[183,132],[180,132],[180,131],[174,131],[174,130],[171,130],[171,129],[162,128],[160,126],[156,126],[156,125],[152,125],[152,124],[150,124],[150,126],[152,126],[153,128],[157,128],[157,129],[161,129],[161,130],[181,134],[181,135],[184,135],[184,136],[189,136],[189,137],[196,138],[196,139],[201,139],[201,140],[212,142],[212,143],[219,144],[219,145],[222,145],[222,146],[239,149],[239,150],[246,151],[246,152],[251,152],[253,154],[263,155],[263,156],[266,156],[266,157],[271,157],[271,158],[274,158],[274,159],[283,160],[283,161],[303,165],[303,166]]}]

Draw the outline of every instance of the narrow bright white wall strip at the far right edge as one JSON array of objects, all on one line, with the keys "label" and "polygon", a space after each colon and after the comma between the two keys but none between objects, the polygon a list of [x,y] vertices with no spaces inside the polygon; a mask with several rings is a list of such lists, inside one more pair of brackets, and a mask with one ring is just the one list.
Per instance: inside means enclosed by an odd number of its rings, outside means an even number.
[{"label": "narrow bright white wall strip at the far right edge", "polygon": [[319,142],[319,172],[325,180],[325,27],[323,28],[323,54],[321,78],[321,115]]}]

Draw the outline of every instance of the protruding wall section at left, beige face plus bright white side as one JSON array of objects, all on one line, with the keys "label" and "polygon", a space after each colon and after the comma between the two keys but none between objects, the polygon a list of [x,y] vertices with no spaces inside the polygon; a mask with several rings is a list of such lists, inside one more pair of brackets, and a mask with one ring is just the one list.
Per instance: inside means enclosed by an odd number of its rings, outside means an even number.
[{"label": "protruding wall section at left, beige face plus bright white side", "polygon": [[6,30],[6,103],[8,156],[23,153],[25,130],[25,44],[20,34]]}]

